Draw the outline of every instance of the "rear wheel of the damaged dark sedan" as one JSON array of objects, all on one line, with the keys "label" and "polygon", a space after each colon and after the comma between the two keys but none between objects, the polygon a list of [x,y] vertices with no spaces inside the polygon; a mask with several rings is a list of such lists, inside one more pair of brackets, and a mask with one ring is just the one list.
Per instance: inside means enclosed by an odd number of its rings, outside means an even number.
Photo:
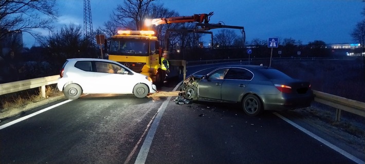
[{"label": "rear wheel of the damaged dark sedan", "polygon": [[263,111],[262,103],[255,95],[247,95],[242,101],[242,107],[249,116],[257,116]]}]

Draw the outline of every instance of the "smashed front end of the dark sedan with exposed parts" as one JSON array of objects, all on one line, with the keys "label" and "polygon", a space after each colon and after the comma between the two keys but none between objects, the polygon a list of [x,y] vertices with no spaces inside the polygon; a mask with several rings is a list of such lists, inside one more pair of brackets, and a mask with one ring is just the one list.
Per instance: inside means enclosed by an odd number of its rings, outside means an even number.
[{"label": "smashed front end of the dark sedan with exposed parts", "polygon": [[180,93],[181,95],[187,100],[198,100],[198,85],[199,81],[202,80],[203,75],[191,75],[187,79],[182,82],[180,86]]}]

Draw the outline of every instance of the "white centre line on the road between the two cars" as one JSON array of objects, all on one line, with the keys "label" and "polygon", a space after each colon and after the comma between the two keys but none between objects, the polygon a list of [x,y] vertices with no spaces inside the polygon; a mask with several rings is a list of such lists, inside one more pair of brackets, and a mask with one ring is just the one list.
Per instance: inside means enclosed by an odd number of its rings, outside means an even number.
[{"label": "white centre line on the road between the two cars", "polygon": [[[175,86],[173,91],[175,91],[178,88],[178,86],[180,86],[181,83],[182,83],[182,81]],[[141,150],[139,150],[137,159],[134,163],[144,163],[145,160],[147,159],[148,152],[150,151],[150,148],[151,148],[152,140],[156,134],[157,126],[160,123],[163,112],[165,112],[166,106],[169,103],[170,99],[171,99],[171,96],[168,97],[165,101],[163,101],[160,108],[158,108],[157,116],[152,122],[151,128],[148,131],[148,134],[143,141]]]}]

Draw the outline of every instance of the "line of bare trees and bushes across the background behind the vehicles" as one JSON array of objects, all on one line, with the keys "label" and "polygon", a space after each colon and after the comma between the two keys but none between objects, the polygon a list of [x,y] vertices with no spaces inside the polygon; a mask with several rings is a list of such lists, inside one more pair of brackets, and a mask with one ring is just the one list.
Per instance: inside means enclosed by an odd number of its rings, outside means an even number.
[{"label": "line of bare trees and bushes across the background behind the vehicles", "polygon": [[[0,52],[0,63],[2,60],[5,61],[11,52],[17,56],[19,63],[23,63],[17,69],[18,72],[25,73],[23,77],[17,78],[18,80],[58,74],[59,68],[67,58],[98,58],[100,56],[98,46],[92,45],[92,41],[83,37],[83,28],[80,25],[64,25],[61,30],[51,32],[48,36],[34,32],[35,29],[39,28],[49,29],[50,31],[55,29],[52,23],[59,16],[55,2],[55,0],[0,1],[0,39],[5,39],[15,31],[22,31],[30,33],[40,45],[33,46],[30,49],[23,48],[22,45],[13,40],[10,42],[9,51],[6,52],[3,50]],[[365,9],[362,14],[365,15]],[[141,30],[143,21],[146,18],[173,16],[181,15],[175,10],[168,9],[163,4],[154,0],[124,0],[109,15],[109,20],[104,22],[103,26],[98,27],[93,33],[95,35],[104,34],[106,38],[110,38],[119,29]],[[170,52],[176,52],[176,49],[186,50],[186,52],[192,49],[201,49],[199,51],[206,52],[207,50],[202,50],[202,45],[207,43],[204,43],[203,34],[201,33],[167,33],[167,29],[194,28],[195,25],[192,23],[163,24],[152,27],[156,32],[160,45]],[[363,47],[365,20],[356,26],[352,37],[354,40],[360,41]],[[92,39],[95,39],[95,37]],[[279,42],[278,50],[282,51],[280,56],[284,57],[295,56],[298,50],[302,51],[303,56],[320,56],[328,53],[328,49],[325,48],[323,41],[316,40],[303,45],[301,41],[293,38],[279,38]],[[248,42],[244,41],[242,36],[236,34],[234,30],[220,29],[214,34],[213,43],[209,47],[213,51],[212,55],[206,54],[204,58],[207,58],[206,60],[214,56],[217,56],[216,58],[227,58],[229,55],[232,58],[235,53],[237,53],[237,57],[242,57],[242,52],[245,51],[244,49],[247,46],[253,49],[252,55],[255,57],[261,57],[267,54],[267,40],[255,38]],[[4,45],[0,45],[0,48],[3,49]],[[230,49],[233,54],[228,54],[227,49]],[[189,60],[189,54],[182,55],[185,56],[182,58]],[[40,70],[42,71],[38,73]],[[0,76],[1,74],[2,72],[0,72]]]}]

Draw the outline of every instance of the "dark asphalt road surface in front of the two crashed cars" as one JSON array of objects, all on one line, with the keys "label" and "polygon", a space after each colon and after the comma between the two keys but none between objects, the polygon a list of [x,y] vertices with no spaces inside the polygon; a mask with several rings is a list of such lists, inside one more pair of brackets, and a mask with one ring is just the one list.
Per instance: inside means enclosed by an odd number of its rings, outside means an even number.
[{"label": "dark asphalt road surface in front of the two crashed cars", "polygon": [[86,95],[0,129],[0,163],[135,162],[355,163],[271,112],[169,97]]}]

